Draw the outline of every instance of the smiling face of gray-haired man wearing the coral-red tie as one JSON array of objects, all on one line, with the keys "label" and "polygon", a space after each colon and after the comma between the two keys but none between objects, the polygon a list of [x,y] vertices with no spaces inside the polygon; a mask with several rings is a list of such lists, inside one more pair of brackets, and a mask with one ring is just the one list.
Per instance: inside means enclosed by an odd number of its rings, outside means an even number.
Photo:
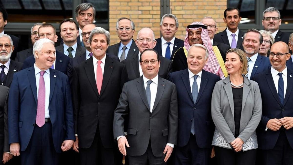
[{"label": "smiling face of gray-haired man wearing the coral-red tie", "polygon": [[96,59],[101,60],[108,49],[107,37],[105,34],[95,34],[91,41],[91,50]]}]

